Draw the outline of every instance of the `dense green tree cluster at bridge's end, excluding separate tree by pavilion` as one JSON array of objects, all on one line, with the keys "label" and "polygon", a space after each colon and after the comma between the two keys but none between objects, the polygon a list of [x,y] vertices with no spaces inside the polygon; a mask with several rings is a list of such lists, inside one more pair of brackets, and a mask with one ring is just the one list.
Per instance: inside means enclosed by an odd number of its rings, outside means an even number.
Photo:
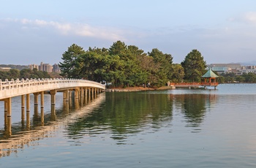
[{"label": "dense green tree cluster at bridge's end, excluding separate tree by pavilion", "polygon": [[[74,52],[78,51],[78,52]],[[172,77],[173,57],[153,49],[146,54],[135,45],[117,41],[106,48],[72,45],[59,64],[64,77],[84,78],[114,86],[166,85]]]}]

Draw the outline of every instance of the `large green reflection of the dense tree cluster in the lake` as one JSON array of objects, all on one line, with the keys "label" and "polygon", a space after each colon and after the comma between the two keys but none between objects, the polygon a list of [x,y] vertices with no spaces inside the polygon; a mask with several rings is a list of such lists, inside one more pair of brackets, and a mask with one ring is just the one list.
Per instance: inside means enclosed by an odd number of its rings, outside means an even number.
[{"label": "large green reflection of the dense tree cluster in the lake", "polygon": [[[78,134],[111,134],[110,137],[124,142],[127,136],[150,128],[157,131],[172,120],[173,102],[167,94],[106,93],[105,103],[69,125],[69,137]],[[77,136],[75,136],[75,134]]]}]

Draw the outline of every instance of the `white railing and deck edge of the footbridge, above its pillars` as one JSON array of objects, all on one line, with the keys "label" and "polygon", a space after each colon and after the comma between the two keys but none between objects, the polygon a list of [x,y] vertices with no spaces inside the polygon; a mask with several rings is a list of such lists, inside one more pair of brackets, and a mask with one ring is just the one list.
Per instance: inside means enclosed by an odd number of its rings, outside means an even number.
[{"label": "white railing and deck edge of the footbridge, above its pillars", "polygon": [[20,96],[40,91],[61,90],[67,88],[100,88],[105,90],[105,85],[91,80],[78,79],[22,79],[0,80],[0,99]]}]

